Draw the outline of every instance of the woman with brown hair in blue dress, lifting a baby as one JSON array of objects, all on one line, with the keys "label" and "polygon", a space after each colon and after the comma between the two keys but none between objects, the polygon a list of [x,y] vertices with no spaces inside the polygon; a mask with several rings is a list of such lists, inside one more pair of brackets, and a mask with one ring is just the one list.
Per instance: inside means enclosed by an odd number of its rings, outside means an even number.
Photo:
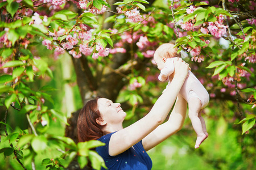
[{"label": "woman with brown hair in blue dress, lifting a baby", "polygon": [[[126,113],[119,103],[105,98],[88,101],[77,122],[79,142],[97,139],[106,143],[96,151],[109,169],[151,169],[146,151],[175,134],[184,123],[187,102],[178,94],[187,74],[188,64],[178,58],[170,86],[146,116],[127,128],[122,126]],[[162,124],[175,100],[169,120]]]}]

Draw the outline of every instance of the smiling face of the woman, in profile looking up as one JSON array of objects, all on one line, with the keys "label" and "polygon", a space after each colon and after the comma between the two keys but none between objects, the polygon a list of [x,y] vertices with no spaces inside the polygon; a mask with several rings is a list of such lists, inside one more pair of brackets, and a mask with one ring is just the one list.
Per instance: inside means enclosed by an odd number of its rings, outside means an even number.
[{"label": "smiling face of the woman, in profile looking up", "polygon": [[120,103],[113,103],[113,101],[106,98],[98,99],[98,110],[101,113],[104,124],[122,124],[126,117],[126,113],[123,112]]}]

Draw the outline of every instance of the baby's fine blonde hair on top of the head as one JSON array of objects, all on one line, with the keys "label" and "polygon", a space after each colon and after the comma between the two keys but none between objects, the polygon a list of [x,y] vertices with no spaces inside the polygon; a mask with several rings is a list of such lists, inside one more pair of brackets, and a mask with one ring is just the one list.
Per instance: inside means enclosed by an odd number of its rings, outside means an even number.
[{"label": "baby's fine blonde hair on top of the head", "polygon": [[166,57],[166,58],[173,58],[173,57],[180,57],[180,53],[177,54],[177,47],[174,48],[174,44],[172,43],[164,43],[155,50],[154,58],[156,57]]}]

